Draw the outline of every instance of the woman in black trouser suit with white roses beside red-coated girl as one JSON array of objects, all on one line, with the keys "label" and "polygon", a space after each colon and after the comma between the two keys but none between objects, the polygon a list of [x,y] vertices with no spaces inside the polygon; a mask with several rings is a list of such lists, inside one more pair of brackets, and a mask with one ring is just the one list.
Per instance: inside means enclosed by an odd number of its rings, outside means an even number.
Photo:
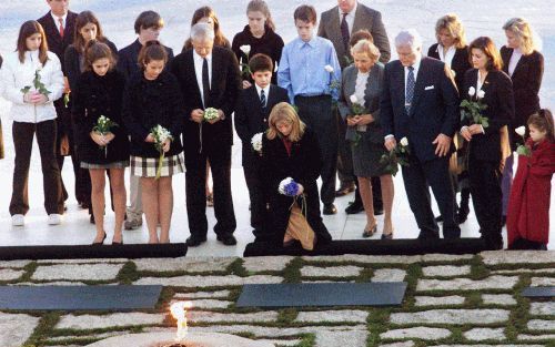
[{"label": "woman in black trouser suit with white roses beside red-coated girl", "polygon": [[[501,71],[501,55],[492,39],[481,37],[470,45],[474,69],[465,74],[462,105],[465,118],[461,134],[470,142],[468,175],[472,202],[480,232],[491,249],[503,248],[501,235],[501,177],[508,137],[506,125],[514,116],[514,96],[511,78]],[[468,108],[478,106],[472,116]],[[476,108],[475,108],[476,109]]]}]

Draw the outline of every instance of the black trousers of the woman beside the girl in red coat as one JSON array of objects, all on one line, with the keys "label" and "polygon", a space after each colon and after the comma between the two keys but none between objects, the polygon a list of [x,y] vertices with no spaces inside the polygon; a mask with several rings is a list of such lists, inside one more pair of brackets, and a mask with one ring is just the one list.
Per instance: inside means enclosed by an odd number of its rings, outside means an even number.
[{"label": "black trousers of the woman beside the girl in red coat", "polygon": [[472,203],[480,224],[480,232],[486,245],[498,249],[503,247],[501,235],[502,191],[498,162],[468,160]]}]

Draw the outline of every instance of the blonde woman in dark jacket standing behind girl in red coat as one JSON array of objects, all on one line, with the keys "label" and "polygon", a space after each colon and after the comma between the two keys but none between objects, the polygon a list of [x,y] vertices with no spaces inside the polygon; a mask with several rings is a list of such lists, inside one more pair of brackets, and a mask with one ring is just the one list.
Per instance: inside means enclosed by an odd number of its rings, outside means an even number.
[{"label": "blonde woman in dark jacket standing behind girl in red coat", "polygon": [[[501,48],[503,71],[513,81],[515,96],[515,118],[508,126],[508,135],[513,151],[516,150],[514,130],[525,126],[528,118],[539,111],[539,86],[544,75],[544,55],[537,51],[534,33],[528,22],[522,18],[512,18],[505,25],[507,44]],[[507,157],[503,171],[503,216],[506,220],[511,185],[513,184],[513,155]]]}]

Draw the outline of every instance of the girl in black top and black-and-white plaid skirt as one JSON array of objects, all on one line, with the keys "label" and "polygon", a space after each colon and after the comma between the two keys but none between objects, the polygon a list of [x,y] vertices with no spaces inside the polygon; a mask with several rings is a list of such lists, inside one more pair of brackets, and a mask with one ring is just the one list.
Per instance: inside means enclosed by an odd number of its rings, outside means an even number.
[{"label": "girl in black top and black-and-white plaid skirt", "polygon": [[160,42],[147,42],[138,61],[142,69],[127,84],[122,110],[131,135],[131,174],[141,177],[149,243],[169,243],[172,175],[184,170],[180,140],[183,99],[178,81],[164,70],[168,53]]}]

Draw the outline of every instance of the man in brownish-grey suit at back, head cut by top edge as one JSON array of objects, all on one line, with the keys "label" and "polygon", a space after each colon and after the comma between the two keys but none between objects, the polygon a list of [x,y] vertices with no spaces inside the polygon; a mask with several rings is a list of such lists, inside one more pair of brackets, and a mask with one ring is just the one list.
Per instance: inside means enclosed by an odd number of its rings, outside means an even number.
[{"label": "man in brownish-grey suit at back, head cut by top edge", "polygon": [[[380,49],[380,61],[386,63],[390,61],[390,40],[385,32],[382,22],[382,14],[371,8],[359,3],[357,0],[337,0],[337,6],[322,13],[317,34],[333,42],[333,47],[337,52],[341,69],[350,65],[352,61],[349,41],[351,35],[365,29],[373,37],[374,44]],[[337,174],[341,185],[335,193],[336,196],[345,195],[354,190],[356,177],[353,173],[353,159],[351,145],[345,141],[346,124],[341,116],[337,116],[337,133],[339,133],[339,161]],[[380,177],[372,178],[374,188],[374,207],[377,214],[382,212],[382,197]],[[359,190],[355,193],[355,201],[345,212],[354,214],[364,211]]]}]

